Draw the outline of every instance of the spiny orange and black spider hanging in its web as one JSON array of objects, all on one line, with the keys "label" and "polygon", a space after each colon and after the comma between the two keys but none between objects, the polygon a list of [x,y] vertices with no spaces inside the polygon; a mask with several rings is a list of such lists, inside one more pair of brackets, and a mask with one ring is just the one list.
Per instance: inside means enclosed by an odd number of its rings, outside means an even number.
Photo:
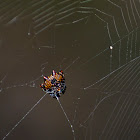
[{"label": "spiny orange and black spider hanging in its web", "polygon": [[44,76],[44,82],[40,84],[44,92],[50,94],[53,98],[58,98],[65,93],[66,84],[63,71],[56,73],[54,70],[48,77]]}]

